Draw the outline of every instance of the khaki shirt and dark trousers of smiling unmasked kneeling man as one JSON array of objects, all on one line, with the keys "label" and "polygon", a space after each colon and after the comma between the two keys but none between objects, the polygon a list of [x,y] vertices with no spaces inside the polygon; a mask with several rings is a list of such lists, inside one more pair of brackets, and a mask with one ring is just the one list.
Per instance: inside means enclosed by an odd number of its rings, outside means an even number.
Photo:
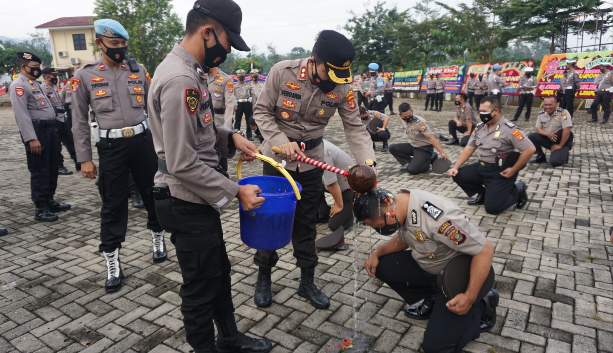
[{"label": "khaki shirt and dark trousers of smiling unmasked kneeling man", "polygon": [[[538,156],[544,156],[543,147],[547,148],[547,150],[551,150],[553,145],[559,144],[562,141],[562,131],[563,129],[566,129],[566,127],[573,127],[573,117],[570,115],[568,110],[558,107],[552,115],[547,114],[545,110],[538,112],[538,117],[536,118],[536,128],[543,129],[546,132],[555,132],[557,135],[557,140],[553,142],[552,140],[549,140],[548,137],[543,136],[538,132],[532,132],[530,135],[528,135],[528,139],[530,139],[530,141],[535,145],[536,154]],[[562,146],[562,148],[551,153],[551,157],[549,158],[551,165],[557,167],[564,164],[568,160],[568,151],[573,148],[573,138],[574,134],[571,132],[568,140],[566,140],[566,143]]]}]

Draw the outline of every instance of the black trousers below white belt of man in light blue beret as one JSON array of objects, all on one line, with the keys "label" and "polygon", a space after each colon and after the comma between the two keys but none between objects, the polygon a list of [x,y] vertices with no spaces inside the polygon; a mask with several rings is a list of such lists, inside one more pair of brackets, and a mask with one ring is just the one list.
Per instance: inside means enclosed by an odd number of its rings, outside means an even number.
[{"label": "black trousers below white belt of man in light blue beret", "polygon": [[158,170],[158,156],[153,149],[151,132],[123,139],[100,139],[96,143],[100,163],[98,189],[102,197],[99,251],[121,248],[128,229],[128,175],[134,182],[147,210],[147,228],[161,232],[153,199],[147,193],[153,187]]}]

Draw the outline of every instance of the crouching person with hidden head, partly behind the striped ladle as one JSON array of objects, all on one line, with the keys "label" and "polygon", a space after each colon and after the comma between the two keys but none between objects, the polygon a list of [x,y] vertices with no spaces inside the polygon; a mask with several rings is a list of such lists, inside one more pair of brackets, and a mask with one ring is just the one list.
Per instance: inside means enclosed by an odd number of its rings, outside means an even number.
[{"label": "crouching person with hidden head, partly behind the striped ladle", "polygon": [[[360,107],[362,108],[362,107]],[[349,154],[341,150],[332,142],[324,140],[324,162],[342,170],[349,170],[356,163]],[[330,230],[337,230],[339,227],[349,229],[353,226],[353,199],[356,194],[351,188],[344,175],[324,171],[321,177],[324,189],[332,195],[334,204],[330,207],[326,202],[326,197],[322,194],[319,204],[319,218],[327,218]],[[321,222],[320,222],[321,223]]]}]

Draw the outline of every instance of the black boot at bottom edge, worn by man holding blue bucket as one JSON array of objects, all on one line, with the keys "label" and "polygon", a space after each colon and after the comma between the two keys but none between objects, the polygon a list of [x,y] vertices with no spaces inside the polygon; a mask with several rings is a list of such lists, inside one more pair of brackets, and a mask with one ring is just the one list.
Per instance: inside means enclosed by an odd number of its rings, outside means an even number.
[{"label": "black boot at bottom edge, worn by man holding blue bucket", "polygon": [[238,332],[234,314],[217,321],[217,351],[219,353],[266,353],[272,349],[268,340],[258,340]]}]

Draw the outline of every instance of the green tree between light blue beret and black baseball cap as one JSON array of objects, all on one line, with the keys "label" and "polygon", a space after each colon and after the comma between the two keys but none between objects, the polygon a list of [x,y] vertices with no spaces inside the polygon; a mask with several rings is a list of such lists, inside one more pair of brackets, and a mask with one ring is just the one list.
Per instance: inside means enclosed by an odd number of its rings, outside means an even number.
[{"label": "green tree between light blue beret and black baseball cap", "polygon": [[128,53],[153,75],[162,55],[183,37],[183,25],[171,9],[170,0],[96,0],[94,12],[96,19],[112,18],[124,26]]}]

